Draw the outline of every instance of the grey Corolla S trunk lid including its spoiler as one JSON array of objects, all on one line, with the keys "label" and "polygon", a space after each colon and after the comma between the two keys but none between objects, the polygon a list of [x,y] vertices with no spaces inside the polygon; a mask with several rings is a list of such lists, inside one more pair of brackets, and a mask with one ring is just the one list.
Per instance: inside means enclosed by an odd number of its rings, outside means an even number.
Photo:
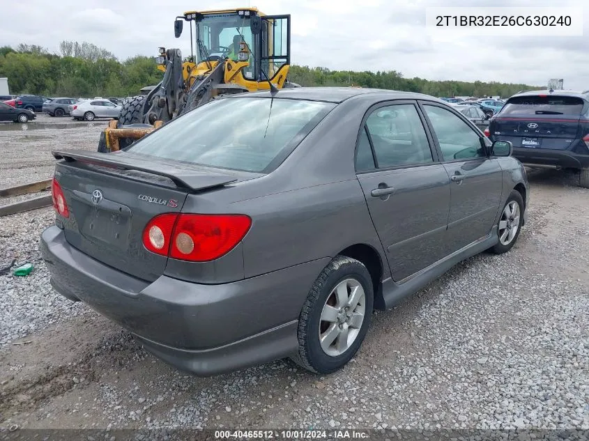
[{"label": "grey Corolla S trunk lid including its spoiler", "polygon": [[129,153],[54,152],[58,180],[70,211],[60,218],[73,247],[146,281],[163,274],[167,257],[143,245],[146,224],[162,212],[180,212],[186,196],[237,179],[148,160]]}]

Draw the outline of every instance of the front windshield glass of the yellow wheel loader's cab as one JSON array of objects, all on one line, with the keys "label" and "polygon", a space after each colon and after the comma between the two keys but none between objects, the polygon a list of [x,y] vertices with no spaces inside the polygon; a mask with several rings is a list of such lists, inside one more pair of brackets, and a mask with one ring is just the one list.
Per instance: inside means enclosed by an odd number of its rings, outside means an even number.
[{"label": "front windshield glass of the yellow wheel loader's cab", "polygon": [[[247,43],[250,52],[250,67],[245,69],[244,75],[248,77],[252,75],[253,78],[254,63],[252,62],[255,53],[254,45],[252,44],[252,29],[250,28],[250,19],[240,17],[236,13],[205,15],[201,22],[197,23],[197,33],[204,46],[199,48],[197,42],[197,61],[205,61],[208,57],[211,61],[215,61],[215,57],[225,58],[229,57],[237,61],[237,53],[239,52],[239,42]],[[206,52],[205,50],[206,49]],[[249,75],[246,72],[250,72]]]}]

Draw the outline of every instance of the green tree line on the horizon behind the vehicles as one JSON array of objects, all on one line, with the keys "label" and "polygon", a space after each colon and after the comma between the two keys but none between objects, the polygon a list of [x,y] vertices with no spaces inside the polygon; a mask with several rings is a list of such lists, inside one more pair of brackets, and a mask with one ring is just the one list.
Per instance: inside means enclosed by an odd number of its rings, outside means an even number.
[{"label": "green tree line on the horizon behind the vehicles", "polygon": [[[158,84],[162,72],[151,56],[120,61],[89,42],[64,40],[55,54],[38,45],[0,47],[0,77],[8,77],[10,92],[45,96],[137,95],[144,86]],[[353,72],[292,65],[289,80],[301,86],[361,86],[420,92],[438,97],[508,97],[523,89],[544,86],[501,82],[431,81],[405,78],[397,70]]]}]

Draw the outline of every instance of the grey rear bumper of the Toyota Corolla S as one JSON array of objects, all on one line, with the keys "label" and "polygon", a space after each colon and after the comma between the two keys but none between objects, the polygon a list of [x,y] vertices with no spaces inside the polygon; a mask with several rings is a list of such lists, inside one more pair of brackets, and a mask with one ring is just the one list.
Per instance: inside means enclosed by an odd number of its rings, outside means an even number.
[{"label": "grey rear bumper of the Toyota Corolla S", "polygon": [[161,276],[149,283],[71,247],[57,226],[41,235],[51,284],[130,330],[146,350],[199,376],[296,352],[300,309],[329,258],[231,284]]}]

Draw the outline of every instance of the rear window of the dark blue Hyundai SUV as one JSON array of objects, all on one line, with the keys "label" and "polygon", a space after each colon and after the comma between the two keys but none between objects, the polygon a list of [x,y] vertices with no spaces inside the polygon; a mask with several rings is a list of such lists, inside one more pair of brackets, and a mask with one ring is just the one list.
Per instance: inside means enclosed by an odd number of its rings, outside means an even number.
[{"label": "rear window of the dark blue Hyundai SUV", "polygon": [[502,115],[581,115],[583,100],[569,96],[520,96],[510,98]]}]

